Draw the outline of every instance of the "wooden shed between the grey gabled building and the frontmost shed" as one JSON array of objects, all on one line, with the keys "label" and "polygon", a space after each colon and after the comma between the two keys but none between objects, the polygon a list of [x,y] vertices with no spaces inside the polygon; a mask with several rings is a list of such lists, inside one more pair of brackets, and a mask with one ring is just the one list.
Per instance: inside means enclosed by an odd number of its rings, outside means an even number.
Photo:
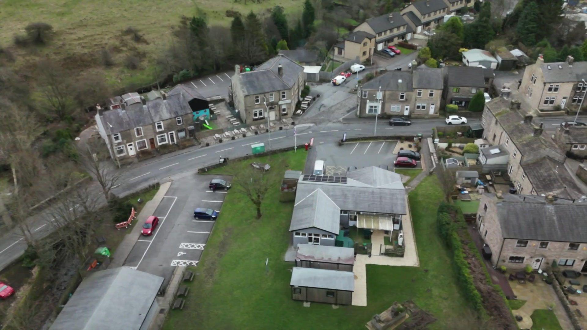
[{"label": "wooden shed between the grey gabled building and the frontmost shed", "polygon": [[295,265],[321,270],[353,271],[355,249],[327,245],[298,244]]}]

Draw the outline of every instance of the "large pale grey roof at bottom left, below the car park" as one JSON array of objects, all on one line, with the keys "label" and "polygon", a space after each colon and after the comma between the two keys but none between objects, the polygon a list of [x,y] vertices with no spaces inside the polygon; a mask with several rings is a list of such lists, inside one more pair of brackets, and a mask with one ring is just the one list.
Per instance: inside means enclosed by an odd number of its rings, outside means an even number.
[{"label": "large pale grey roof at bottom left, below the car park", "polygon": [[77,287],[50,329],[139,329],[163,277],[129,267],[97,271]]}]

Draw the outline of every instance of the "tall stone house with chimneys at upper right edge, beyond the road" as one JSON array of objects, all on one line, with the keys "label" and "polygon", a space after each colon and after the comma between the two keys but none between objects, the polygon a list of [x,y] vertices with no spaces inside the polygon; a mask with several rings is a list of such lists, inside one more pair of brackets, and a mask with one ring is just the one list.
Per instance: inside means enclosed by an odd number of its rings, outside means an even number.
[{"label": "tall stone house with chimneys at upper right edge, beyond the road", "polygon": [[587,62],[574,62],[569,55],[565,62],[544,63],[541,55],[526,67],[518,91],[536,109],[576,109],[587,91],[583,79],[587,79]]}]

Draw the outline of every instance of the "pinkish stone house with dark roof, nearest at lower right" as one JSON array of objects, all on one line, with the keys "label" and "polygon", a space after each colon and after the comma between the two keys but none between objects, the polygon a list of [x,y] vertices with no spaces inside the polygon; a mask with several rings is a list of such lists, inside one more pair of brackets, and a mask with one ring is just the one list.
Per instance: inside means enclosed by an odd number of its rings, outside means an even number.
[{"label": "pinkish stone house with dark roof, nearest at lower right", "polygon": [[552,196],[484,194],[477,230],[494,267],[587,272],[587,204]]}]

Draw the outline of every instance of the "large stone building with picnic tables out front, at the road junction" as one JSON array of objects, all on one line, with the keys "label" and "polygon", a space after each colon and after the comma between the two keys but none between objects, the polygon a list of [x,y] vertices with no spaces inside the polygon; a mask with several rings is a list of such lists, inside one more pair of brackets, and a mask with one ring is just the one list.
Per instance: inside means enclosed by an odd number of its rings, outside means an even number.
[{"label": "large stone building with picnic tables out front, at the road junction", "polygon": [[303,66],[285,55],[277,55],[251,72],[235,66],[231,97],[238,117],[245,124],[259,120],[281,120],[294,113],[305,85]]}]

